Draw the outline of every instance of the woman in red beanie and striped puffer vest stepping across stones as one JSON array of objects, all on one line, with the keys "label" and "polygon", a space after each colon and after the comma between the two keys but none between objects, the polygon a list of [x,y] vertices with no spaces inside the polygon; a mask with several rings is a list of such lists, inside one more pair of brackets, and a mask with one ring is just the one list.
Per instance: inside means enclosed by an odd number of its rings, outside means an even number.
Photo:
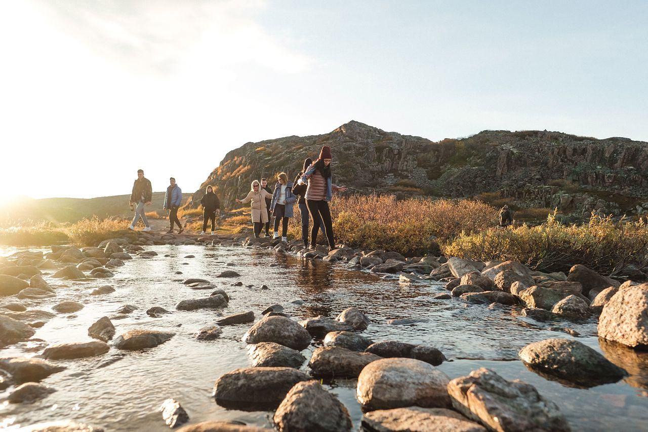
[{"label": "woman in red beanie and striped puffer vest stepping across stones", "polygon": [[330,169],[332,159],[330,147],[328,145],[323,146],[319,151],[318,160],[311,163],[299,179],[299,184],[308,184],[305,197],[308,212],[313,219],[313,228],[310,231],[311,249],[317,246],[318,231],[321,224],[324,225],[324,234],[329,241],[329,250],[335,247],[329,201],[333,197],[333,191],[345,192],[347,187],[333,184]]}]

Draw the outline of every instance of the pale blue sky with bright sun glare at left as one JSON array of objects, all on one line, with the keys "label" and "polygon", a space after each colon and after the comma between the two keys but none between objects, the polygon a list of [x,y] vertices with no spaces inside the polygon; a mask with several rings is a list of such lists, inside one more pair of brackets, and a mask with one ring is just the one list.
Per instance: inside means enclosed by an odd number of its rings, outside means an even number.
[{"label": "pale blue sky with bright sun glare at left", "polygon": [[648,141],[646,1],[0,2],[0,203],[193,192],[350,120]]}]

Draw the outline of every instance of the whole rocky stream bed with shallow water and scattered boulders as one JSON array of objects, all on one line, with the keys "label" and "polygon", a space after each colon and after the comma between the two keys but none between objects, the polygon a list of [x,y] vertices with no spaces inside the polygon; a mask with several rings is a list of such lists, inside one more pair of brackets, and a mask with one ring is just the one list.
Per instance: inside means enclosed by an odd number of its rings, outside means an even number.
[{"label": "whole rocky stream bed with shallow water and scattered boulders", "polygon": [[[599,342],[601,310],[575,277],[251,243],[0,248],[0,427],[524,430],[531,414],[546,430],[648,424],[648,354]],[[623,300],[608,294],[599,302]],[[502,424],[471,411],[471,397],[498,401]]]}]

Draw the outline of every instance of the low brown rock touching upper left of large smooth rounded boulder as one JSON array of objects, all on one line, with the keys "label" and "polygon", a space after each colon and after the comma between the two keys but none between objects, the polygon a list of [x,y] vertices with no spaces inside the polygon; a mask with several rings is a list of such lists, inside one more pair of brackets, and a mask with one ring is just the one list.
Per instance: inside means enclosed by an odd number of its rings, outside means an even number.
[{"label": "low brown rock touching upper left of large smooth rounded boulder", "polygon": [[339,346],[320,346],[313,352],[308,366],[318,376],[354,378],[360,375],[364,366],[378,359],[378,355],[367,352],[355,352]]}]

